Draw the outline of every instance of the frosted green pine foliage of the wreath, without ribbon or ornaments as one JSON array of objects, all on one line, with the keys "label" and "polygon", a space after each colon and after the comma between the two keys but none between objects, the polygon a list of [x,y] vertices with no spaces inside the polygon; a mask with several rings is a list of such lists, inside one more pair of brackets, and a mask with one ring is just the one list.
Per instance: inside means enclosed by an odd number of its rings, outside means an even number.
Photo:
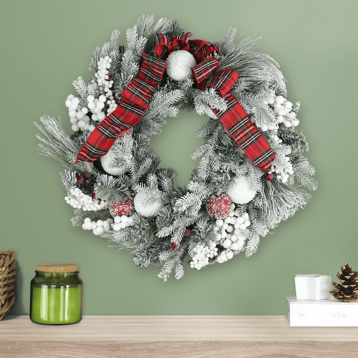
[{"label": "frosted green pine foliage of the wreath, without ribbon or ornaments", "polygon": [[[108,56],[111,59],[108,74],[113,80],[113,95],[119,103],[123,90],[138,75],[142,51],[155,56],[154,35],[164,33],[175,36],[183,32],[184,29],[177,21],[143,16],[127,30],[127,43],[124,46],[118,44],[119,31],[115,30],[109,42],[96,48],[89,71],[93,75],[98,71],[100,58]],[[274,174],[273,180],[266,180],[265,173],[248,160],[219,120],[212,118],[208,118],[207,123],[196,131],[196,135],[203,137],[205,143],[192,155],[193,159],[200,158],[200,163],[193,171],[187,187],[174,185],[177,175],[175,170],[158,169],[160,158],[150,149],[150,138],[161,131],[166,117],[193,109],[204,114],[207,105],[226,109],[225,101],[216,91],[196,89],[191,78],[174,81],[165,77],[142,120],[134,127],[133,134],[127,133],[117,139],[111,148],[114,153],[111,165],[113,168],[125,168],[119,175],[106,173],[100,160],[75,164],[89,131],[79,130],[69,136],[59,121],[48,116],[41,118],[41,124],[36,124],[41,152],[59,160],[67,168],[61,178],[68,192],[71,188],[79,187],[83,193],[91,195],[94,189],[96,199],[109,204],[126,198],[134,200],[138,194],[144,195],[141,202],[144,207],[160,203],[155,215],[144,216],[135,210],[131,216],[132,226],[120,230],[114,230],[111,226],[101,236],[114,243],[114,246],[131,251],[138,267],[162,266],[159,277],[164,280],[172,272],[176,278],[183,275],[183,265],[194,257],[197,245],[209,247],[211,242],[217,240],[215,219],[208,214],[205,205],[211,195],[225,194],[235,177],[246,177],[255,188],[256,195],[246,204],[235,204],[237,215],[247,213],[250,225],[242,230],[244,247],[235,251],[234,255],[243,250],[246,256],[255,253],[261,237],[306,204],[310,194],[305,188],[317,188],[312,178],[314,168],[304,157],[304,152],[308,150],[304,135],[293,126],[286,127],[279,122],[272,104],[275,96],[286,96],[285,80],[277,63],[257,51],[257,38],[236,41],[236,29],[231,28],[213,43],[221,50],[214,54],[219,60],[219,70],[238,72],[239,80],[231,92],[252,120],[255,119],[256,126],[275,151],[274,165],[285,173],[292,168],[287,182],[282,183],[278,179],[278,172]],[[80,77],[73,85],[79,98],[79,109],[87,106],[89,95],[98,98],[101,94],[95,76],[88,83]],[[299,102],[292,104],[292,112],[297,113],[298,109]],[[91,115],[89,111],[89,124],[96,125]],[[272,141],[274,136],[281,141]],[[81,186],[77,179],[85,174],[89,179]],[[98,211],[74,209],[73,225],[82,226],[85,218],[91,222],[110,219],[108,205]],[[187,229],[190,230],[189,234]],[[179,248],[174,249],[172,243],[180,244]],[[226,250],[219,244],[217,248],[218,254]],[[208,263],[215,262],[214,256]]]}]

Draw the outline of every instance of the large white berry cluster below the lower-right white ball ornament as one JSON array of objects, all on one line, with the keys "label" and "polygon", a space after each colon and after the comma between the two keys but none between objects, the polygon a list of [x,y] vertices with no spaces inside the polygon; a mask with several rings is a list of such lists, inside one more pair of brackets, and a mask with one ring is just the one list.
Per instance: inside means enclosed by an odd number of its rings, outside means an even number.
[{"label": "large white berry cluster below the lower-right white ball ornament", "polygon": [[217,262],[223,263],[234,256],[234,252],[244,249],[245,235],[244,230],[250,226],[249,214],[240,215],[238,211],[233,211],[226,219],[218,219],[215,223],[214,231],[217,232],[216,244],[223,246],[226,250],[218,256]]}]

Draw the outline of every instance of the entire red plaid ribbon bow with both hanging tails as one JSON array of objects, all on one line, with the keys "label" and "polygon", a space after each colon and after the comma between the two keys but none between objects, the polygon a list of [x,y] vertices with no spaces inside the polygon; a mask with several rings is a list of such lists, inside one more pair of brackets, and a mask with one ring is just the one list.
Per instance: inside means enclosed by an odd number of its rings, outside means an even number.
[{"label": "entire red plaid ribbon bow with both hanging tails", "polygon": [[[252,163],[262,171],[271,168],[275,153],[270,148],[259,130],[251,123],[247,113],[230,93],[235,85],[238,74],[233,70],[223,70],[216,73],[219,61],[209,57],[220,49],[204,40],[189,40],[191,32],[169,38],[166,35],[155,35],[155,52],[160,58],[142,53],[143,64],[138,78],[131,81],[122,94],[122,101],[118,107],[103,121],[101,121],[83,145],[76,164],[83,160],[93,162],[105,155],[115,142],[118,135],[136,125],[147,110],[152,96],[158,90],[157,85],[162,82],[166,68],[164,61],[168,55],[176,50],[189,51],[198,65],[191,68],[192,75],[198,89],[214,88],[228,107],[225,111],[212,109],[228,133],[242,148]],[[206,58],[205,60],[203,60]]]}]

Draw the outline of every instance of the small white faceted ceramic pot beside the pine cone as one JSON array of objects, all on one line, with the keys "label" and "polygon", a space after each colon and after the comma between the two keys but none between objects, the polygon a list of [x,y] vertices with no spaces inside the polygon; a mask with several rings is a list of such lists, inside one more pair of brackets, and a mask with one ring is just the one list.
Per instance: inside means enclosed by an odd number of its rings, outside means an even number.
[{"label": "small white faceted ceramic pot beside the pine cone", "polygon": [[331,294],[332,276],[321,274],[296,275],[296,298],[318,301],[329,299]]}]

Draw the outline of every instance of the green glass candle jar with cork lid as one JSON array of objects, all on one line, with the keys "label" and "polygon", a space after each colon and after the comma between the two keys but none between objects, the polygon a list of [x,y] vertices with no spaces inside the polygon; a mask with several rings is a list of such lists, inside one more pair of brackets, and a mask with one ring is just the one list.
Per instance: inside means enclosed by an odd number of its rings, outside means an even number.
[{"label": "green glass candle jar with cork lid", "polygon": [[31,280],[30,320],[66,325],[82,319],[83,283],[74,264],[39,265]]}]

